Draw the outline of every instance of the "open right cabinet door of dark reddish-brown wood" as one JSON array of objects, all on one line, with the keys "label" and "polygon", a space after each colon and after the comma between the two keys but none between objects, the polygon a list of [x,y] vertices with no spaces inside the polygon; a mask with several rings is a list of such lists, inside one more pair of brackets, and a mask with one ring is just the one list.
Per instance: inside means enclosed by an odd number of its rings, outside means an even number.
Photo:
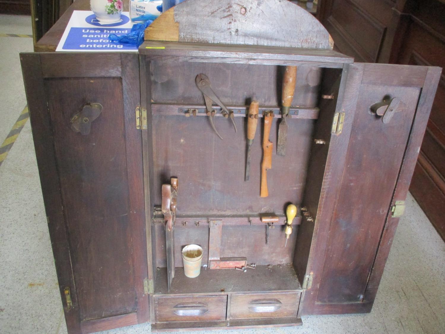
[{"label": "open right cabinet door of dark reddish-brown wood", "polygon": [[[383,64],[346,70],[336,101],[343,129],[330,135],[320,196],[303,199],[316,214],[301,226],[315,224],[300,315],[371,310],[441,73]],[[378,104],[384,100],[389,106]]]}]

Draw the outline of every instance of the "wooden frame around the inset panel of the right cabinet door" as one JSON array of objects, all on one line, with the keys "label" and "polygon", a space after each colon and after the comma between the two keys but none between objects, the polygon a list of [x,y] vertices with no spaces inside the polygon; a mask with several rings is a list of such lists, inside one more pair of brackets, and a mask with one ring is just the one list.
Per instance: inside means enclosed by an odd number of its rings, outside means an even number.
[{"label": "wooden frame around the inset panel of the right cabinet door", "polygon": [[[405,66],[405,65],[383,65],[383,64],[353,64],[349,66],[348,83],[344,94],[343,103],[338,105],[341,110],[355,110],[357,103],[356,90],[362,81],[367,81],[372,73],[386,73],[385,66]],[[372,67],[381,67],[376,71],[369,71]],[[413,67],[413,66],[410,66]],[[365,68],[367,71],[365,72]],[[306,275],[313,274],[312,286],[306,289],[302,296],[299,316],[309,314],[346,314],[346,313],[366,313],[372,309],[372,304],[376,297],[377,288],[383,274],[384,265],[388,258],[392,240],[396,231],[399,218],[393,218],[390,215],[390,208],[395,205],[396,200],[405,199],[408,194],[409,184],[413,176],[414,167],[416,165],[417,156],[419,154],[420,145],[425,133],[426,124],[428,122],[429,112],[436,94],[437,84],[439,82],[441,69],[437,67],[424,67],[425,75],[419,77],[408,77],[409,74],[401,74],[400,81],[405,80],[405,84],[400,86],[421,87],[421,93],[418,99],[417,109],[409,134],[409,140],[405,149],[405,155],[402,160],[401,170],[396,182],[392,202],[388,207],[387,219],[384,224],[380,243],[377,248],[374,264],[368,279],[363,301],[344,302],[344,303],[317,303],[318,287],[323,284],[321,275],[323,271],[325,253],[327,250],[327,241],[329,237],[329,226],[334,216],[334,208],[336,198],[340,186],[336,182],[329,180],[337,180],[341,178],[344,168],[344,157],[347,147],[342,146],[339,142],[340,137],[331,138],[332,151],[328,155],[325,175],[329,175],[326,180],[325,189],[322,190],[320,198],[319,211],[315,221],[314,237],[312,239],[311,254]],[[366,77],[368,76],[368,77]],[[378,84],[396,85],[393,77],[377,78]],[[351,109],[352,108],[352,109]],[[352,130],[353,117],[345,119],[343,127],[343,135],[350,137]],[[335,162],[329,163],[332,157],[336,157]]]}]

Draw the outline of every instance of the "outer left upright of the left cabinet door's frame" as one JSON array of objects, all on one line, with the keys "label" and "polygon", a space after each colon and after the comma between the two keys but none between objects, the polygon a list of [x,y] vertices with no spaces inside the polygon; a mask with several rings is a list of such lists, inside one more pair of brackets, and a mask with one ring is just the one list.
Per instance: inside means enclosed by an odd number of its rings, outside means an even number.
[{"label": "outer left upright of the left cabinet door's frame", "polygon": [[[49,236],[53,248],[59,292],[61,294],[66,326],[73,333],[80,332],[79,304],[74,290],[74,277],[69,254],[69,239],[64,222],[63,204],[61,199],[61,180],[57,171],[57,157],[54,150],[53,134],[46,91],[40,63],[40,55],[21,53],[20,61],[23,69],[26,98],[28,100],[29,117],[31,120],[34,148],[40,175],[40,185],[48,220]],[[71,291],[73,306],[68,310],[64,289]]]}]

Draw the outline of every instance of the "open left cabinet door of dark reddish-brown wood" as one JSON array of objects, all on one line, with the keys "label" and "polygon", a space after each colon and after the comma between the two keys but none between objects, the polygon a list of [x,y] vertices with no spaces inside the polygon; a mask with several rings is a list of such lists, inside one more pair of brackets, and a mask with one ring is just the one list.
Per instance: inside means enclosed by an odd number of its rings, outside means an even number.
[{"label": "open left cabinet door of dark reddish-brown wood", "polygon": [[138,54],[20,57],[68,332],[148,322]]}]

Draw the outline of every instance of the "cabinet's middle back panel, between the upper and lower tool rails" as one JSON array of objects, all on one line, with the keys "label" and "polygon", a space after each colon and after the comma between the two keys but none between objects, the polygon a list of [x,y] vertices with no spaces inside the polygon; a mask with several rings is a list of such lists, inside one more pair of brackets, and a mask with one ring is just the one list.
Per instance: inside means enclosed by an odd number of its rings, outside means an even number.
[{"label": "cabinet's middle back panel, between the upper and lower tool rails", "polygon": [[221,140],[207,117],[153,116],[154,204],[161,204],[162,183],[179,179],[178,215],[284,213],[289,202],[301,203],[312,141],[312,120],[290,119],[286,156],[276,155],[279,118],[271,130],[272,169],[267,171],[269,197],[260,198],[263,151],[260,118],[252,145],[251,177],[244,181],[247,119],[233,125],[214,118]]}]

